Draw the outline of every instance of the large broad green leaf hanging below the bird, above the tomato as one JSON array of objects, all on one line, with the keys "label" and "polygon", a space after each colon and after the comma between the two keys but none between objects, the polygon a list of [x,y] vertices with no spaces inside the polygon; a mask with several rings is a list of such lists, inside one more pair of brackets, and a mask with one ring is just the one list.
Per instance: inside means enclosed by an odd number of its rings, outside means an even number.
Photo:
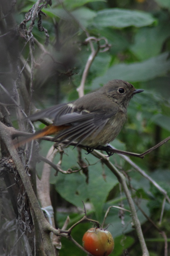
[{"label": "large broad green leaf hanging below the bird, above the tomato", "polygon": [[[85,154],[85,151],[82,152]],[[62,168],[68,168],[77,165],[77,150],[67,149],[67,155],[63,156]],[[82,201],[87,199],[93,204],[97,219],[101,218],[103,205],[106,201],[109,191],[118,183],[117,178],[109,171],[105,170],[106,179],[103,178],[103,168],[100,162],[92,155],[88,155],[89,182],[86,183],[86,176],[82,172],[69,175],[59,173],[57,177],[52,175],[51,183],[55,183],[56,190],[61,197],[77,207],[83,208]],[[78,167],[79,168],[79,167]]]}]

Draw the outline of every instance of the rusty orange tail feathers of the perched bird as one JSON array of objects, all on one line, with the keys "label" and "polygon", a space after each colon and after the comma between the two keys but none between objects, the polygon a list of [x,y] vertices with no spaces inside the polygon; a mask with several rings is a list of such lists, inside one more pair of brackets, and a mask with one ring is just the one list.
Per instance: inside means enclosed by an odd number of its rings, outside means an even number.
[{"label": "rusty orange tail feathers of the perched bird", "polygon": [[24,138],[23,140],[19,141],[14,146],[15,146],[15,148],[18,148],[19,146],[21,146],[27,142],[30,142],[35,139],[39,139],[39,138],[47,136],[47,135],[57,134],[61,130],[67,129],[67,128],[69,128],[69,126],[54,126],[54,125],[50,124],[49,126],[45,127],[44,129],[39,130],[38,132],[36,132],[34,134],[31,134],[30,137]]}]

